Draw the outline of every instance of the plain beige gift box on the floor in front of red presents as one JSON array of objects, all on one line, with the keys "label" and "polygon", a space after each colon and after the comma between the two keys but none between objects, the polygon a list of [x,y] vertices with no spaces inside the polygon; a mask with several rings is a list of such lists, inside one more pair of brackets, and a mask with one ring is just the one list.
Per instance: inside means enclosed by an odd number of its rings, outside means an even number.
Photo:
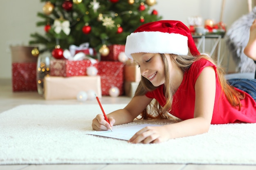
[{"label": "plain beige gift box on the floor in front of red presents", "polygon": [[54,77],[44,81],[44,97],[50,99],[76,99],[79,91],[93,90],[101,98],[100,76]]}]

